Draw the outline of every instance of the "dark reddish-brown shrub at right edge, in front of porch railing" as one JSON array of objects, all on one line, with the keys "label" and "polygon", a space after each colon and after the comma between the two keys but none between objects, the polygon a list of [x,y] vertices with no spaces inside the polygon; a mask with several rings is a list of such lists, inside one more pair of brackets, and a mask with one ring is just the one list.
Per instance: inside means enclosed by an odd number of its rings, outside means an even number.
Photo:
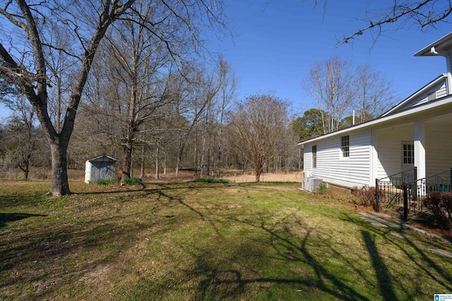
[{"label": "dark reddish-brown shrub at right edge, in front of porch railing", "polygon": [[444,230],[452,231],[452,193],[430,192],[423,205],[433,213],[434,222]]}]

